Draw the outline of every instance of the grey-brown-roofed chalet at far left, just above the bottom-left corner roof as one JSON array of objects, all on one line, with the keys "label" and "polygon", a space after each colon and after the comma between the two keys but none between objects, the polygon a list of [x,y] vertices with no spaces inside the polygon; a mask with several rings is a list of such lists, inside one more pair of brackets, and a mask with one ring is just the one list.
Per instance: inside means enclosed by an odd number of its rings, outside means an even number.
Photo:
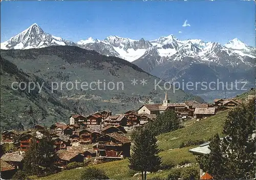
[{"label": "grey-brown-roofed chalet at far left, just above the bottom-left corner roof", "polygon": [[9,153],[5,153],[1,157],[1,162],[5,161],[6,163],[10,164],[15,169],[22,169],[23,168],[23,159],[24,159],[23,153],[9,152]]}]

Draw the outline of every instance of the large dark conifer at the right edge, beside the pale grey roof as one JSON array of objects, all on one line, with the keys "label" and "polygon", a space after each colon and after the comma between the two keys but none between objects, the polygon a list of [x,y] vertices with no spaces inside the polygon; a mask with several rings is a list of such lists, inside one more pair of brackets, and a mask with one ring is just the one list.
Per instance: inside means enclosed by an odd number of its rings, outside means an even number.
[{"label": "large dark conifer at the right edge, beside the pale grey roof", "polygon": [[255,99],[231,110],[224,122],[221,141],[211,140],[208,155],[198,158],[204,171],[214,178],[252,178],[256,171]]}]

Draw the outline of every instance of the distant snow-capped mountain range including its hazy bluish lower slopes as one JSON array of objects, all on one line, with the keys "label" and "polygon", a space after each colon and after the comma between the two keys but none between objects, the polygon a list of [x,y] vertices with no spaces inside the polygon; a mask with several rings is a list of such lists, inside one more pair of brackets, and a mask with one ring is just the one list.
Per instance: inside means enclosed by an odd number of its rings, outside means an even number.
[{"label": "distant snow-capped mountain range including its hazy bluish lower slopes", "polygon": [[[77,43],[47,34],[37,24],[1,43],[1,49],[28,49],[52,45],[74,45],[133,62],[165,81],[202,82],[207,80],[254,82],[255,47],[234,38],[222,45],[200,39],[179,40],[174,35],[155,40],[133,40],[109,36]],[[237,79],[239,78],[239,79]],[[199,94],[199,90],[189,91]],[[205,91],[204,91],[205,92]]]}]

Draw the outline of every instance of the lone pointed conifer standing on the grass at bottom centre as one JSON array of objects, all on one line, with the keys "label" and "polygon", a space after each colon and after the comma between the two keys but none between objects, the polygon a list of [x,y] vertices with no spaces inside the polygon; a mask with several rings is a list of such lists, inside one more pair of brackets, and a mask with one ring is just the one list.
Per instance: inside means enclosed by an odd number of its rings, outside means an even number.
[{"label": "lone pointed conifer standing on the grass at bottom centre", "polygon": [[156,172],[161,165],[157,139],[154,134],[145,127],[134,131],[132,135],[134,148],[129,159],[130,169],[140,171],[142,179],[146,180],[146,172]]}]

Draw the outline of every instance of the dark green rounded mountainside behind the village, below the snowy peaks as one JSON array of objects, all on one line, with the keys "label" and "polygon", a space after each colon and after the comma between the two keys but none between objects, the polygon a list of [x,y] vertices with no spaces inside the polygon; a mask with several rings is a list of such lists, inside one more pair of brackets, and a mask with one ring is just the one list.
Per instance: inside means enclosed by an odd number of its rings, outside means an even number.
[{"label": "dark green rounded mountainside behind the village, below the snowy peaks", "polygon": [[[100,55],[95,50],[61,45],[2,49],[0,58],[0,114],[1,128],[4,129],[28,128],[36,122],[47,125],[56,121],[67,122],[73,113],[88,115],[111,110],[113,114],[121,114],[137,110],[150,100],[161,103],[165,95],[165,90],[161,89],[164,81],[160,82],[159,78],[135,64]],[[132,80],[136,83],[133,84]],[[145,84],[141,83],[142,80],[146,80]],[[161,88],[154,88],[155,81],[160,82]],[[18,90],[12,89],[13,82],[17,82],[15,88]],[[25,90],[22,90],[22,82]],[[39,85],[29,92],[31,82]],[[18,84],[22,88],[17,88]],[[41,92],[40,86],[43,87]],[[173,93],[170,89],[168,96],[171,102],[203,101],[182,90]]]}]

